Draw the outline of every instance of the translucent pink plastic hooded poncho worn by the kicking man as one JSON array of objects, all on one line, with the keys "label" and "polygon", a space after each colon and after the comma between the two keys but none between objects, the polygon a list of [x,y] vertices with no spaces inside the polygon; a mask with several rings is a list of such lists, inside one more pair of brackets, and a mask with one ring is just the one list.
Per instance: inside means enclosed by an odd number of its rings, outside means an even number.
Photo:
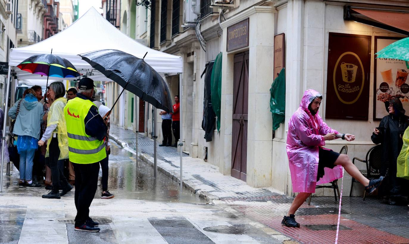
[{"label": "translucent pink plastic hooded poncho worn by the kicking man", "polygon": [[300,107],[288,122],[287,155],[290,164],[292,191],[314,193],[316,184],[324,184],[342,177],[342,166],[324,168],[325,175],[317,182],[318,151],[325,146],[324,135],[338,133],[322,121],[318,114],[312,115],[308,105],[322,96],[312,89],[304,92]]}]

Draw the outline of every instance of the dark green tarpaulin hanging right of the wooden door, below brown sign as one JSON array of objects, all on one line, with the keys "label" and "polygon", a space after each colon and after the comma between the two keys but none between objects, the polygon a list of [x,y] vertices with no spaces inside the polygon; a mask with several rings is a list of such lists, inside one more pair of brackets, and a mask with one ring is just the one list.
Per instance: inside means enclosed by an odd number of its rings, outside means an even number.
[{"label": "dark green tarpaulin hanging right of the wooden door, below brown sign", "polygon": [[281,69],[270,88],[270,112],[273,118],[273,131],[285,120],[285,71]]}]

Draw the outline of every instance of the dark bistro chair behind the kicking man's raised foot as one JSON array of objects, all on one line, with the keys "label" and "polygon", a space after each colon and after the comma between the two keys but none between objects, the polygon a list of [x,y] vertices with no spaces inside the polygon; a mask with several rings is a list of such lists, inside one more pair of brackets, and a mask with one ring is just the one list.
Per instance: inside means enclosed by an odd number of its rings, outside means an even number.
[{"label": "dark bistro chair behind the kicking man's raised foot", "polygon": [[[382,146],[381,144],[378,144],[376,146],[371,147],[371,149],[369,149],[368,153],[366,153],[365,160],[354,157],[352,160],[352,163],[355,164],[355,159],[358,161],[364,162],[366,164],[366,169],[361,169],[360,172],[366,178],[371,180],[374,178],[378,178],[380,176],[379,170],[382,166],[381,157],[382,157]],[[349,192],[350,197],[352,196],[354,182],[358,182],[358,181],[352,178],[351,191]],[[365,195],[366,195],[366,191],[364,190],[364,198],[363,198],[364,201],[365,201]]]}]

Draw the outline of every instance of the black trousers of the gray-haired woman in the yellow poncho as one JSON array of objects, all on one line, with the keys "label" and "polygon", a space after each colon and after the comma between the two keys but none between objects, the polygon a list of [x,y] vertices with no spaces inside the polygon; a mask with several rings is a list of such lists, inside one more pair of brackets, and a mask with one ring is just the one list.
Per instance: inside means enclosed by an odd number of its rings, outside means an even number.
[{"label": "black trousers of the gray-haired woman in the yellow poncho", "polygon": [[58,136],[51,139],[49,142],[49,157],[47,160],[47,166],[51,169],[51,178],[53,181],[52,191],[58,192],[58,188],[61,186],[67,186],[68,182],[64,176],[64,160],[58,160],[60,157],[60,148],[58,147]]}]

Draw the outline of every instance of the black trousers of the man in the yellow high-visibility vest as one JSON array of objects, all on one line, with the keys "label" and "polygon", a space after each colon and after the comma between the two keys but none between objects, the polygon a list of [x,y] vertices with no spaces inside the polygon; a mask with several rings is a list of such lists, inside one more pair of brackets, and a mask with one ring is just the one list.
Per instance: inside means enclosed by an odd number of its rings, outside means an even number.
[{"label": "black trousers of the man in the yellow high-visibility vest", "polygon": [[99,162],[92,164],[72,163],[75,171],[75,224],[81,225],[90,218],[90,206],[97,192]]}]

